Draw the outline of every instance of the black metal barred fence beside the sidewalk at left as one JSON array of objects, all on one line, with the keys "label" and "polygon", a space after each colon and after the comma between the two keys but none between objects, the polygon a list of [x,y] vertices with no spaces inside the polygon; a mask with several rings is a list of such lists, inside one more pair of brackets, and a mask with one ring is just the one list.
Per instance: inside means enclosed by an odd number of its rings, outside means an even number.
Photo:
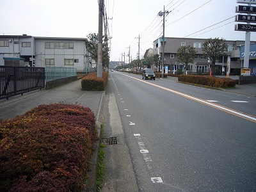
[{"label": "black metal barred fence beside the sidewalk at left", "polygon": [[0,99],[45,87],[44,67],[0,66]]}]

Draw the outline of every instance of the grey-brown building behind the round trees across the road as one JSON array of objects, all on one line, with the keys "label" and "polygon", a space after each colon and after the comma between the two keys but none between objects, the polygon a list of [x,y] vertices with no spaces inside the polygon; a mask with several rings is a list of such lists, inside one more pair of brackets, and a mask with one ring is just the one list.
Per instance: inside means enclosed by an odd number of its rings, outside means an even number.
[{"label": "grey-brown building behind the round trees across the road", "polygon": [[[182,68],[182,63],[177,62],[177,50],[180,46],[188,46],[195,47],[197,53],[195,56],[194,63],[189,63],[191,72],[208,72],[209,65],[211,65],[211,61],[204,59],[202,57],[203,51],[202,46],[207,39],[203,38],[173,38],[166,37],[164,38],[164,60],[165,65],[168,66],[169,71],[173,69],[177,70],[178,68]],[[216,61],[216,68],[222,70],[224,68],[225,72],[227,72],[227,61],[230,61],[230,72],[233,72],[234,68],[243,68],[243,59],[240,57],[240,49],[244,45],[244,41],[236,40],[225,40],[228,45],[228,50],[226,52],[227,56],[219,58]],[[256,44],[256,42],[251,41],[251,44]],[[162,46],[163,38],[158,38],[154,42],[154,51],[158,54],[162,54]],[[249,67],[255,67],[255,60],[250,60]]]}]

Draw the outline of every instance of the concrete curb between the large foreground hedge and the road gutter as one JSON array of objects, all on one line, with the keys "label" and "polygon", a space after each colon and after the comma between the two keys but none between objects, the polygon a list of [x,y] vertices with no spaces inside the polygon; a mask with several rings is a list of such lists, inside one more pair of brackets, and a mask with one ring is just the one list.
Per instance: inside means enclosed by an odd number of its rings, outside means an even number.
[{"label": "concrete curb between the large foreground hedge and the road gutter", "polygon": [[105,96],[106,92],[102,92],[102,96],[100,99],[100,106],[99,106],[99,111],[97,113],[97,118],[96,118],[96,129],[98,131],[98,137],[99,140],[97,140],[94,144],[93,147],[93,154],[91,157],[91,165],[90,165],[90,170],[87,172],[87,175],[89,178],[86,180],[86,187],[85,190],[86,192],[95,192],[96,191],[96,181],[97,181],[97,169],[98,169],[98,160],[99,160],[99,150],[100,150],[100,140],[101,140],[101,132],[100,128],[103,123],[103,111],[104,111],[104,104],[105,104]]}]

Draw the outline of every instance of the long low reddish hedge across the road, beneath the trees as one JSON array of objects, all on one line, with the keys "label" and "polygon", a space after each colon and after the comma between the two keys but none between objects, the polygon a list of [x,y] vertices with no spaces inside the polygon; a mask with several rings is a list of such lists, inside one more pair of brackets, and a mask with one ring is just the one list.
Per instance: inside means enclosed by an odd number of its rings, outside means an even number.
[{"label": "long low reddish hedge across the road, beneath the trees", "polygon": [[178,77],[178,80],[185,83],[202,84],[205,86],[213,86],[217,88],[227,88],[236,86],[235,80],[222,77],[180,75]]}]

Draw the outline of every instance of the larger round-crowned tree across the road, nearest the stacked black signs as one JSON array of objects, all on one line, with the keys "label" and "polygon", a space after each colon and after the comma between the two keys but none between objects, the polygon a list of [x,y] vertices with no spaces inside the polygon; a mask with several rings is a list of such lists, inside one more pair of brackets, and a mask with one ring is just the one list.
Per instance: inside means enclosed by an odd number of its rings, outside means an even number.
[{"label": "larger round-crowned tree across the road, nearest the stacked black signs", "polygon": [[225,55],[227,50],[227,44],[225,44],[225,39],[221,38],[209,38],[203,44],[203,57],[209,59],[212,62],[212,75],[215,75],[215,63],[218,58]]}]

